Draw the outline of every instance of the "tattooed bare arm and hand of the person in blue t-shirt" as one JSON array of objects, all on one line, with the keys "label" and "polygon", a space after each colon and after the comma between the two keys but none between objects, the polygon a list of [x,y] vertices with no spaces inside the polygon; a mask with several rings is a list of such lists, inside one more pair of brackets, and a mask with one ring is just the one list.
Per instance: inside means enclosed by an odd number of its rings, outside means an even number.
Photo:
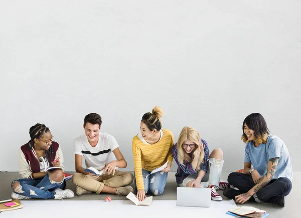
[{"label": "tattooed bare arm and hand of the person in blue t-shirt", "polygon": [[267,162],[267,171],[265,175],[258,181],[258,183],[254,187],[252,187],[247,193],[235,196],[235,199],[238,203],[246,202],[248,199],[250,199],[250,197],[253,194],[259,191],[260,188],[264,187],[265,185],[267,185],[267,183],[270,182],[270,180],[272,180],[277,168],[278,159],[278,157],[269,159]]}]

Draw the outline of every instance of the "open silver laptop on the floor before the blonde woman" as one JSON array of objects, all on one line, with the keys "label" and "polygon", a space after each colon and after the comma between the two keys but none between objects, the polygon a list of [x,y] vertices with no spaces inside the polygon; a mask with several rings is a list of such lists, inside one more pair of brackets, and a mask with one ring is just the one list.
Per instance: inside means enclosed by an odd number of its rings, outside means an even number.
[{"label": "open silver laptop on the floor before the blonde woman", "polygon": [[177,187],[177,206],[211,206],[211,188]]}]

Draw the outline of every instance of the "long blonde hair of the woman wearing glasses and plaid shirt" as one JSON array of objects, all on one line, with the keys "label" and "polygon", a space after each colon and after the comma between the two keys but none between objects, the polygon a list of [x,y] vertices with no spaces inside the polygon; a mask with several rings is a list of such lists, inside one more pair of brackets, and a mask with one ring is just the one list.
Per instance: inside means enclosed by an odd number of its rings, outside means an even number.
[{"label": "long blonde hair of the woman wearing glasses and plaid shirt", "polygon": [[[198,131],[195,128],[190,127],[190,126],[185,126],[182,129],[182,131],[181,131],[181,133],[179,135],[179,138],[178,138],[177,149],[178,149],[178,160],[179,160],[179,163],[181,165],[183,165],[183,166],[184,166],[184,161],[187,162],[187,163],[191,163],[192,160],[193,160],[193,158],[194,158],[194,154],[192,154],[192,157],[191,157],[184,150],[184,148],[183,148],[182,145],[183,145],[183,143],[184,143],[185,140],[192,141],[197,146],[201,146],[201,144],[202,144],[201,143],[200,134],[198,133]],[[197,147],[195,147],[195,149],[196,148]],[[194,150],[192,151],[192,153],[194,152]],[[200,153],[200,157],[198,159],[197,171],[200,171],[200,164],[202,163],[204,156],[205,156],[205,152],[204,152],[204,149],[202,149],[201,153]]]}]

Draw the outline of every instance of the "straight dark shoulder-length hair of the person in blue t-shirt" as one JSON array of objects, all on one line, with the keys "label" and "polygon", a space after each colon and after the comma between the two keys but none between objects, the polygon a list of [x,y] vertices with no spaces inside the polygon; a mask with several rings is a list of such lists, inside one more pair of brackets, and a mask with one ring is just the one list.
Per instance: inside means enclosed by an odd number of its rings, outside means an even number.
[{"label": "straight dark shoulder-length hair of the person in blue t-shirt", "polygon": [[243,142],[248,141],[248,137],[244,133],[244,124],[246,124],[249,129],[254,131],[254,136],[261,143],[266,143],[267,135],[269,134],[269,129],[267,128],[266,122],[260,113],[252,113],[248,115],[242,123],[242,136]]}]

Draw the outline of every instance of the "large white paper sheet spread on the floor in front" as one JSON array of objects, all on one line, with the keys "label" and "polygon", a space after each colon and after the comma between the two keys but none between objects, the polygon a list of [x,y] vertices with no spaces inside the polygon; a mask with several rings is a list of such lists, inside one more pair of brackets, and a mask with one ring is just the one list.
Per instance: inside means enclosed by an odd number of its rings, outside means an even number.
[{"label": "large white paper sheet spread on the floor in front", "polygon": [[[21,201],[24,208],[2,212],[0,218],[16,217],[228,217],[235,208],[233,200],[212,201],[211,207],[177,206],[176,200],[154,200],[148,206],[136,206],[129,200],[30,200]],[[234,216],[233,216],[234,217]]]}]

